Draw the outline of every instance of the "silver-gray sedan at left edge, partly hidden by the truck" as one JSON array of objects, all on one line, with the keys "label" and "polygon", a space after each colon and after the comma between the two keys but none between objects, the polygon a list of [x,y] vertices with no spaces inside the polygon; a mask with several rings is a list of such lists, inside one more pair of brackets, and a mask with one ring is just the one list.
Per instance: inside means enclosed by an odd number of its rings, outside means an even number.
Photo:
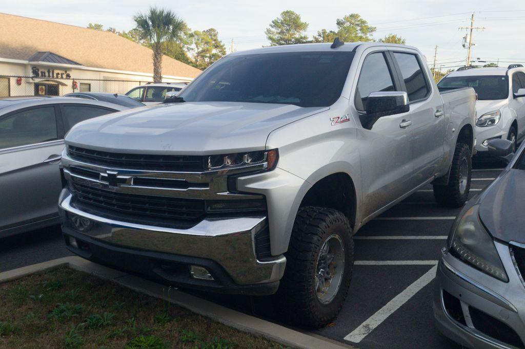
[{"label": "silver-gray sedan at left edge, partly hidden by the truck", "polygon": [[117,104],[67,97],[0,99],[0,237],[57,224],[64,134]]}]

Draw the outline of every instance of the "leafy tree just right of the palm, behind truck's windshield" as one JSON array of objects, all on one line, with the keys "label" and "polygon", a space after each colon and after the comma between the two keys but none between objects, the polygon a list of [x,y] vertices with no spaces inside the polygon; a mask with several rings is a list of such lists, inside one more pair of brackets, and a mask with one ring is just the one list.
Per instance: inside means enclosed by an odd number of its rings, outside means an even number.
[{"label": "leafy tree just right of the palm, behind truck's windshield", "polygon": [[195,30],[190,39],[188,50],[192,53],[192,65],[196,68],[205,69],[226,54],[224,43],[219,40],[215,28]]}]

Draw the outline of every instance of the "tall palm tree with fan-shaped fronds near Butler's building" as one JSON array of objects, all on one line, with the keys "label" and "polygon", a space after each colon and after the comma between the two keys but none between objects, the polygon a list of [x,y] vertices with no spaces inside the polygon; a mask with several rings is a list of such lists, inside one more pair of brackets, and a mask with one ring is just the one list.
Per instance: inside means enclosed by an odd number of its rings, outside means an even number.
[{"label": "tall palm tree with fan-shaped fronds near Butler's building", "polygon": [[159,7],[150,7],[148,13],[138,13],[133,19],[141,39],[148,40],[153,50],[153,81],[161,82],[166,44],[178,39],[186,24],[170,9]]}]

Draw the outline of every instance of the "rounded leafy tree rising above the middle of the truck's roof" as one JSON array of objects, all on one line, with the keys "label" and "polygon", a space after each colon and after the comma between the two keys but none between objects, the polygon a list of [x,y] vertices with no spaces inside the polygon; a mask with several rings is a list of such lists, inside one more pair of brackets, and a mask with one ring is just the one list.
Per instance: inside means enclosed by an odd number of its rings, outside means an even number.
[{"label": "rounded leafy tree rising above the middle of the truck's roof", "polygon": [[299,14],[286,10],[281,12],[280,17],[271,21],[265,34],[271,46],[291,45],[308,41],[308,37],[304,35],[306,29],[308,23],[301,21]]}]

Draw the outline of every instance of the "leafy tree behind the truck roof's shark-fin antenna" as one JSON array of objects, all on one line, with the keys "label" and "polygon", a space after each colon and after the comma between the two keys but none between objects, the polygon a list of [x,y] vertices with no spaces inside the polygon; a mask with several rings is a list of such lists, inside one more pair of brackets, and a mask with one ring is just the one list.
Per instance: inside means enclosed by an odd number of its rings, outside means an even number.
[{"label": "leafy tree behind the truck roof's shark-fin antenna", "polygon": [[336,37],[339,37],[344,42],[372,41],[372,34],[374,34],[376,29],[369,26],[368,22],[356,13],[338,18],[335,24],[337,25],[337,31],[321,29],[313,37],[313,41],[332,42]]}]

